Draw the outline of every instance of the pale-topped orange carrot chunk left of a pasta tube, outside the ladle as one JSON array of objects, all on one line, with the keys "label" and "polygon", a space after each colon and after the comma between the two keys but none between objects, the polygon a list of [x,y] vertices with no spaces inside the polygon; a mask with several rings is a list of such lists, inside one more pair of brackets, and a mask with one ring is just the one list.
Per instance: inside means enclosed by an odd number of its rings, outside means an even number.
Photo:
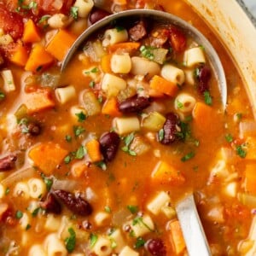
[{"label": "pale-topped orange carrot chunk left of a pasta tube, outside the ladle", "polygon": [[50,90],[46,88],[26,93],[24,103],[28,114],[55,107],[55,102],[51,98]]}]

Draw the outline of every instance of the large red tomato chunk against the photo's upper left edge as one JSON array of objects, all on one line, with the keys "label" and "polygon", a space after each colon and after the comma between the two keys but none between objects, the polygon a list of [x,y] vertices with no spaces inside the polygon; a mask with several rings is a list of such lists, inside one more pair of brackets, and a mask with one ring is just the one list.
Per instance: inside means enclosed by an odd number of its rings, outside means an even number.
[{"label": "large red tomato chunk against the photo's upper left edge", "polygon": [[21,38],[24,30],[22,17],[15,12],[10,12],[0,3],[0,27],[5,33],[14,38],[14,40]]}]

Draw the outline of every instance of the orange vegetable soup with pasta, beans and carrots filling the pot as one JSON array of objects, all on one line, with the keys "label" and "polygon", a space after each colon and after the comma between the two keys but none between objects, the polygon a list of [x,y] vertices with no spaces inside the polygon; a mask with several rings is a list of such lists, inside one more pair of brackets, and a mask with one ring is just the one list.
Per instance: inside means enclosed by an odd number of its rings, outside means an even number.
[{"label": "orange vegetable soup with pasta, beans and carrots filling the pot", "polygon": [[[0,5],[1,255],[187,255],[175,204],[194,193],[212,255],[253,255],[255,121],[218,39],[182,1],[114,1],[189,20],[220,55],[224,108],[203,45],[177,26],[113,23],[90,1]],[[250,231],[251,230],[251,231]]]}]

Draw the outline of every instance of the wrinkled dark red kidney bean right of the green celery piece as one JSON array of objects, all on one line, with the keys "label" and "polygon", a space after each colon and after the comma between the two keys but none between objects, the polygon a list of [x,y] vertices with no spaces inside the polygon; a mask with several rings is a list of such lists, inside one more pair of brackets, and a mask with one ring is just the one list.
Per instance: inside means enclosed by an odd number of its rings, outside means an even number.
[{"label": "wrinkled dark red kidney bean right of the green celery piece", "polygon": [[158,133],[158,139],[162,144],[171,144],[177,141],[179,137],[177,137],[177,132],[180,131],[180,120],[178,118],[177,113],[167,113],[166,114],[166,122],[163,126],[163,137],[160,137],[160,133]]}]

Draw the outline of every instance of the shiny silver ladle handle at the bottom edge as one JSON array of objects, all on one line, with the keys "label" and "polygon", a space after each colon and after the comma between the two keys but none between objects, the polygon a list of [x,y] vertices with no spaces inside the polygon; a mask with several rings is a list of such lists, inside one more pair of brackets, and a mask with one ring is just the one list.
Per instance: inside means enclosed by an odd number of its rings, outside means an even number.
[{"label": "shiny silver ladle handle at the bottom edge", "polygon": [[176,206],[176,211],[189,256],[212,255],[195,207],[194,196],[189,195],[180,201]]}]

